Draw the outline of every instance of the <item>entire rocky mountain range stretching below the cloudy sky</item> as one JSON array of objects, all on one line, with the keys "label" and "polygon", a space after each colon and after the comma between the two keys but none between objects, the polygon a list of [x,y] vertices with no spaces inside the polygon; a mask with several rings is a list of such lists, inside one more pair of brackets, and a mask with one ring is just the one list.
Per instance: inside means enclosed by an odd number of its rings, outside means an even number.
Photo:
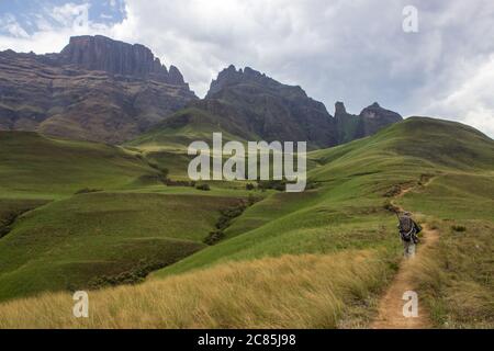
[{"label": "entire rocky mountain range stretching below the cloudy sky", "polygon": [[[72,139],[122,144],[156,126],[199,123],[244,139],[305,140],[314,149],[402,120],[379,105],[333,117],[300,86],[234,65],[198,99],[180,70],[167,69],[146,46],[102,35],[74,36],[59,54],[1,52],[0,68],[0,129]],[[198,121],[203,115],[209,118]]]}]

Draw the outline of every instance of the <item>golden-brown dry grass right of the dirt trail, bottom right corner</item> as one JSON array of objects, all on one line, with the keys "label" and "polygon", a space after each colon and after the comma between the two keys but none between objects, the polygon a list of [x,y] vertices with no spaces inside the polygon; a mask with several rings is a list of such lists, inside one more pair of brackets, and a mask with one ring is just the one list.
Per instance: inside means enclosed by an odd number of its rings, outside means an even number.
[{"label": "golden-brown dry grass right of the dirt trail, bottom right corner", "polygon": [[441,229],[439,242],[425,248],[411,274],[435,327],[492,329],[493,226],[481,220],[463,224],[464,234],[436,220]]}]

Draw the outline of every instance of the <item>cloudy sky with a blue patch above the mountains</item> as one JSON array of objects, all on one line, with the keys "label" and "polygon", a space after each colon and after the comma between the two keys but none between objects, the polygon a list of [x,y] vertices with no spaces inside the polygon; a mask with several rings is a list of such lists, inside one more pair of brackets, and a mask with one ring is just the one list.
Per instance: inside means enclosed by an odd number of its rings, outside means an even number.
[{"label": "cloudy sky with a blue patch above the mountains", "polygon": [[[407,5],[418,32],[403,30]],[[81,34],[148,46],[200,97],[234,64],[332,114],[337,100],[352,113],[378,101],[494,136],[492,0],[0,0],[0,49],[59,52]]]}]

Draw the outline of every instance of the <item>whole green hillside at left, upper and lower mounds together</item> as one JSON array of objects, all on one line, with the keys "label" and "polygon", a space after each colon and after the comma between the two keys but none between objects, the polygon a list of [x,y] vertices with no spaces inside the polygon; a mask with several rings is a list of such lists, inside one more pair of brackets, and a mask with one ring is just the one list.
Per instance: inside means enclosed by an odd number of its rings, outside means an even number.
[{"label": "whole green hillside at left, upper and lower mounds together", "polygon": [[138,279],[203,248],[245,195],[167,188],[121,148],[18,132],[0,133],[0,299]]}]

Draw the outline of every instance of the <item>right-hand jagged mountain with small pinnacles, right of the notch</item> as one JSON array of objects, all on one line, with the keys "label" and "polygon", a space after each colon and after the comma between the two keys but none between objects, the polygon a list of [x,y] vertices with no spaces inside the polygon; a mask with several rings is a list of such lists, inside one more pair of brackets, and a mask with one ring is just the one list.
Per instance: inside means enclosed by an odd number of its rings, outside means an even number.
[{"label": "right-hand jagged mountain with small pinnacles, right of the notch", "polygon": [[[223,132],[243,140],[305,140],[316,149],[372,135],[403,120],[378,103],[363,109],[360,115],[348,114],[340,102],[336,107],[334,117],[324,103],[310,98],[301,87],[283,84],[250,67],[237,69],[229,65],[212,80],[204,99],[168,116],[150,134],[156,137],[162,129],[161,136],[171,139],[187,126],[183,140],[188,141],[192,140],[190,131],[197,129],[201,135],[205,131]],[[144,134],[141,139],[167,144],[159,136],[153,141]]]}]

